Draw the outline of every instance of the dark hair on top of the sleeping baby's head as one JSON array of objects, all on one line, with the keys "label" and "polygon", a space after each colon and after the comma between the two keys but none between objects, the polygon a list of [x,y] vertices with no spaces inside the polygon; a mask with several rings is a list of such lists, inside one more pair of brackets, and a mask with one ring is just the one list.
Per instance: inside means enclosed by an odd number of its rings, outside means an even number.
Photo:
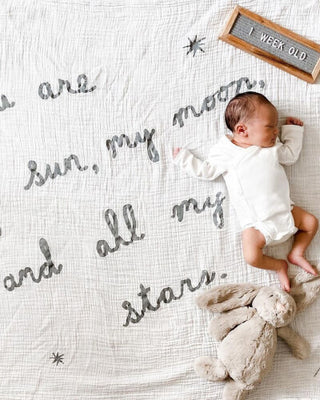
[{"label": "dark hair on top of the sleeping baby's head", "polygon": [[261,93],[245,92],[233,97],[226,108],[224,119],[231,132],[239,121],[246,121],[256,110],[258,104],[274,105]]}]

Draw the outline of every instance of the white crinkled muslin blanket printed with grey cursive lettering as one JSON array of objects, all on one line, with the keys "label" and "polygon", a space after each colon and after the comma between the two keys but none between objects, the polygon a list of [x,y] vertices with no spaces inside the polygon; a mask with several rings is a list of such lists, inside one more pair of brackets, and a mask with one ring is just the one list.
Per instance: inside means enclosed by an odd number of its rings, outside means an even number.
[{"label": "white crinkled muslin blanket printed with grey cursive lettering", "polygon": [[[295,204],[320,217],[319,81],[220,41],[237,3],[1,1],[1,400],[221,398],[193,371],[218,345],[195,296],[278,282],[245,264],[223,178],[187,176],[172,149],[203,159],[227,101],[259,91],[280,124],[304,121],[286,173]],[[318,0],[240,5],[320,41]],[[307,256],[319,263],[319,233]],[[249,400],[320,398],[319,311],[294,322],[310,359],[279,341]]]}]

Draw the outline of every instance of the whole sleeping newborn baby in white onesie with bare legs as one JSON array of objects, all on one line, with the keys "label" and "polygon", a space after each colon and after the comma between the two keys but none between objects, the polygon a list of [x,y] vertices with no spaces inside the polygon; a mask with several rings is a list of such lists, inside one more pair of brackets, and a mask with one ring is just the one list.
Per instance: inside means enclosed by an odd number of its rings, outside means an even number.
[{"label": "whole sleeping newborn baby in white onesie with bare legs", "polygon": [[241,225],[245,261],[276,271],[281,287],[289,292],[287,261],[266,256],[263,249],[294,235],[288,260],[317,275],[304,253],[317,232],[318,220],[294,205],[282,167],[295,163],[299,157],[303,122],[287,117],[280,141],[278,112],[265,96],[256,92],[241,93],[231,99],[225,121],[232,136],[223,135],[205,161],[186,148],[175,148],[174,163],[200,179],[224,177]]}]

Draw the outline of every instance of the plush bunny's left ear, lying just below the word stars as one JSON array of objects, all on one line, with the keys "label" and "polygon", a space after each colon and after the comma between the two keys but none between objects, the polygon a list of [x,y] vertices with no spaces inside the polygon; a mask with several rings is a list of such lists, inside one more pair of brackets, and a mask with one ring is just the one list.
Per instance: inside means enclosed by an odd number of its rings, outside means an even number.
[{"label": "plush bunny's left ear, lying just below the word stars", "polygon": [[213,312],[228,311],[250,304],[259,289],[247,283],[216,286],[198,296],[196,303]]}]

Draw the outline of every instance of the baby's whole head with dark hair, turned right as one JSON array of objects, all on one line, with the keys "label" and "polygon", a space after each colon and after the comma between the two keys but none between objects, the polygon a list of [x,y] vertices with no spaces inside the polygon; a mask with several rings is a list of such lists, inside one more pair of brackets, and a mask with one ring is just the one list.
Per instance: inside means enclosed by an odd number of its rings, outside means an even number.
[{"label": "baby's whole head with dark hair, turned right", "polygon": [[229,101],[225,111],[233,143],[241,147],[274,146],[278,136],[278,112],[260,93],[245,92]]}]

